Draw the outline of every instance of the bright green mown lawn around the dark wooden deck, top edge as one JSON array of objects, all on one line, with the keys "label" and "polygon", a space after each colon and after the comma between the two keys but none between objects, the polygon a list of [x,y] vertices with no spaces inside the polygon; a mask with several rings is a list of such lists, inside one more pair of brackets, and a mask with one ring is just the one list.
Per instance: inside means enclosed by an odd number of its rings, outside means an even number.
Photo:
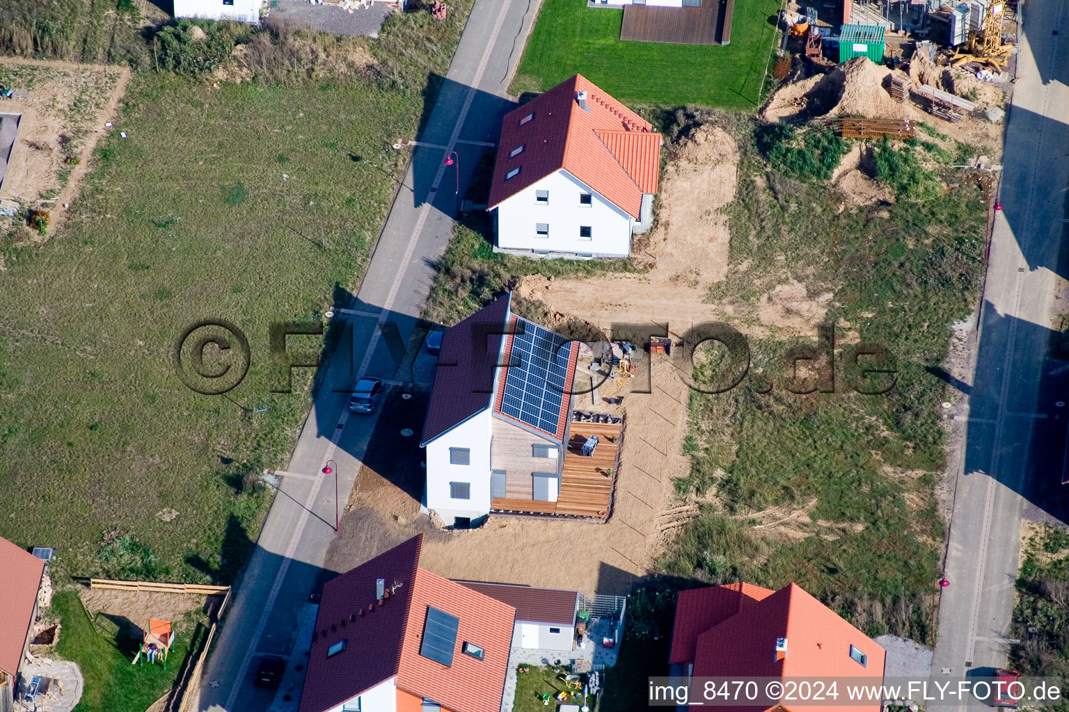
[{"label": "bright green mown lawn around the dark wooden deck, top edge", "polygon": [[716,47],[621,42],[622,10],[545,0],[511,91],[545,91],[578,73],[631,106],[753,109],[778,11],[778,0],[740,0],[731,44]]}]

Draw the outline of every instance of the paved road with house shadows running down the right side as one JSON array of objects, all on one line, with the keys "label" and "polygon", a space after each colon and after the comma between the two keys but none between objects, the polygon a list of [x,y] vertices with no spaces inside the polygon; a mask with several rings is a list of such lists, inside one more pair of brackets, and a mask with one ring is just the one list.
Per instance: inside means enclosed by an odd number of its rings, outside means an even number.
[{"label": "paved road with house shadows running down the right side", "polygon": [[[967,399],[932,671],[1006,665],[1022,516],[1062,519],[1069,408],[1052,347],[1069,185],[1069,7],[1021,3],[1018,78],[1008,114],[976,370]],[[1064,354],[1062,354],[1064,355]],[[963,418],[962,418],[963,420]],[[939,572],[933,571],[933,580]],[[980,706],[977,700],[969,705]]]}]

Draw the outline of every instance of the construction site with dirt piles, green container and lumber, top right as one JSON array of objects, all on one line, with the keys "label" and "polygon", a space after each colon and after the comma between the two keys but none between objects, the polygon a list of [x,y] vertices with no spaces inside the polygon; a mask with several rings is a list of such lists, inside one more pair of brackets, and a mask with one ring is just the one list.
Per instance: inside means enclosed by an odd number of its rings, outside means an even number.
[{"label": "construction site with dirt piles, green container and lumber, top right", "polygon": [[851,116],[836,124],[840,136],[908,138],[927,121],[997,152],[1016,73],[1016,2],[826,0],[791,3],[780,21],[780,84],[766,122]]}]

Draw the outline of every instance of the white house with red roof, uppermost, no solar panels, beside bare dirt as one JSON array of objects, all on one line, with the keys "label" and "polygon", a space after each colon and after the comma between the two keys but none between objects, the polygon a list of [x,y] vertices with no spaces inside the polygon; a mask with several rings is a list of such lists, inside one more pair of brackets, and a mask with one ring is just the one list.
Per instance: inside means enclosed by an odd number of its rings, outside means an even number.
[{"label": "white house with red roof, uppermost, no solar panels, beside bare dirt", "polygon": [[505,115],[489,209],[500,252],[626,257],[649,228],[661,135],[582,75]]}]

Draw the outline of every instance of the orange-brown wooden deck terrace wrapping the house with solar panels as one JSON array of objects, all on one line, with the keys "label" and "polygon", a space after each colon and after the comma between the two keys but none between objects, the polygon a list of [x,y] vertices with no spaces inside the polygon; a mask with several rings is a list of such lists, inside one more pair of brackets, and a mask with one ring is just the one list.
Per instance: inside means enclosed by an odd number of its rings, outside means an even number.
[{"label": "orange-brown wooden deck terrace wrapping the house with solar panels", "polygon": [[[491,511],[606,519],[613,500],[616,468],[619,466],[617,454],[622,445],[622,423],[573,422],[557,501],[536,502],[494,497],[491,501]],[[601,440],[593,455],[584,457],[583,443],[591,436],[600,436]],[[615,436],[616,442],[609,442],[608,436]]]}]

